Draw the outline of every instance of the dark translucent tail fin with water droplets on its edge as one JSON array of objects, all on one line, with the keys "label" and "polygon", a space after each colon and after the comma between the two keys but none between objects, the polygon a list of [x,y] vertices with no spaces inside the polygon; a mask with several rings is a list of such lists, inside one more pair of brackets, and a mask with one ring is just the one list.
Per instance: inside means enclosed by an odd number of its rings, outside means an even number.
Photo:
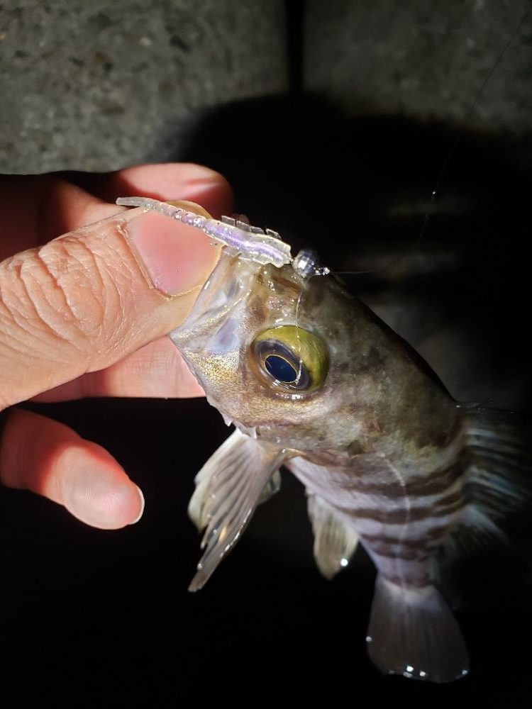
[{"label": "dark translucent tail fin with water droplets on its edge", "polygon": [[366,640],[384,674],[450,682],[469,671],[460,627],[434,586],[402,588],[379,574]]}]

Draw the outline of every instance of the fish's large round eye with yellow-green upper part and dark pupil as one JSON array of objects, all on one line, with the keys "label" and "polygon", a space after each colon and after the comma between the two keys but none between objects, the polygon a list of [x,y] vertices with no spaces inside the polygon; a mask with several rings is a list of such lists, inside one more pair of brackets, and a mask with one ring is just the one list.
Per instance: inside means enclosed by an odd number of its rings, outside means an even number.
[{"label": "fish's large round eye with yellow-green upper part and dark pupil", "polygon": [[316,391],[327,378],[325,343],[295,325],[282,325],[257,335],[251,357],[260,379],[272,389]]}]

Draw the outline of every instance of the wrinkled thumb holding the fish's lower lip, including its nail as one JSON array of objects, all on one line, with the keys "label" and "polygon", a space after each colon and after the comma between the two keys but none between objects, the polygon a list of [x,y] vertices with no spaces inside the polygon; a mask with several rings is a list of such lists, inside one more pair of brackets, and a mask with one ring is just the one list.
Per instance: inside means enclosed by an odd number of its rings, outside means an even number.
[{"label": "wrinkled thumb holding the fish's lower lip, including its nail", "polygon": [[1,262],[0,410],[170,332],[218,255],[201,231],[134,209]]}]

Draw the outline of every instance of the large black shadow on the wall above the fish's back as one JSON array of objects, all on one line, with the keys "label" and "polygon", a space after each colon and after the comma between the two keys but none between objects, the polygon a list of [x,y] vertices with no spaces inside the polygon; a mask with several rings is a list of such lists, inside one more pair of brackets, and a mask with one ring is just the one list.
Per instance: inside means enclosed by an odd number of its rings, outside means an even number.
[{"label": "large black shadow on the wall above the fish's back", "polygon": [[[279,231],[294,253],[311,245],[339,272],[369,270],[344,278],[453,396],[530,408],[532,134],[345,119],[320,99],[271,97],[205,113],[181,145],[167,157],[225,174],[235,211]],[[458,374],[445,371],[450,359]]]}]

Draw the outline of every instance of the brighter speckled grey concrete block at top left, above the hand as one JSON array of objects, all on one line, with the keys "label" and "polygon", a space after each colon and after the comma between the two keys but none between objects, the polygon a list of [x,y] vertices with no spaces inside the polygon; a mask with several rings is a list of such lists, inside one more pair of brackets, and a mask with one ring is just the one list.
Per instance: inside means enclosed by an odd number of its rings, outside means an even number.
[{"label": "brighter speckled grey concrete block at top left, above the hand", "polygon": [[0,172],[161,160],[202,109],[287,88],[280,0],[0,0]]}]

